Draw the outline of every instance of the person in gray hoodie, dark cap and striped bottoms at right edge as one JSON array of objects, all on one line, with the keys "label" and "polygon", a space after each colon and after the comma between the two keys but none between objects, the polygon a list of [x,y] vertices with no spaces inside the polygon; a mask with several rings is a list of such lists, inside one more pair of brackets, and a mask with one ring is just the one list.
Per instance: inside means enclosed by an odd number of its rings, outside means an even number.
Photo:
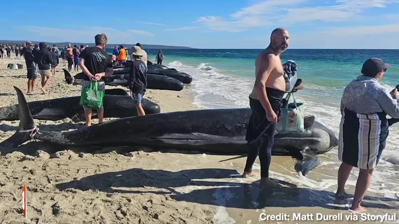
[{"label": "person in gray hoodie, dark cap and striped bottoms at right edge", "polygon": [[375,166],[381,157],[388,137],[387,115],[399,118],[399,92],[388,92],[379,81],[391,65],[379,58],[367,59],[361,69],[363,75],[346,86],[341,100],[341,122],[338,143],[337,197],[348,197],[345,183],[353,167],[359,176],[351,210],[365,211],[360,203],[371,183]]}]

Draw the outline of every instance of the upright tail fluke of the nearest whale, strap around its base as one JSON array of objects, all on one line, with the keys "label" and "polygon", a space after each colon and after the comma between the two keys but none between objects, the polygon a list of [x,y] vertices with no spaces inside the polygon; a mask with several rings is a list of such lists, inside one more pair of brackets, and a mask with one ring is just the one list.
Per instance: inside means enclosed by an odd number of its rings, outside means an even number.
[{"label": "upright tail fluke of the nearest whale, strap around its base", "polygon": [[31,136],[37,131],[24,94],[18,87],[14,86],[14,88],[18,95],[18,118],[20,119],[20,125],[13,136],[0,143],[0,146],[3,147],[17,147],[30,140]]}]

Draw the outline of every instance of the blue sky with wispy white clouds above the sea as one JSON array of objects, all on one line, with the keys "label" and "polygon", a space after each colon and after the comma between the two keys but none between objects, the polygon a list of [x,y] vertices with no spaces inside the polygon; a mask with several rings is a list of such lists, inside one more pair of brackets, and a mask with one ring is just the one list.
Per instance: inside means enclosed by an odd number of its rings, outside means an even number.
[{"label": "blue sky with wispy white clouds above the sea", "polygon": [[[274,28],[289,48],[399,49],[399,0],[6,1],[1,39],[265,48]],[[9,9],[9,10],[7,10]]]}]

